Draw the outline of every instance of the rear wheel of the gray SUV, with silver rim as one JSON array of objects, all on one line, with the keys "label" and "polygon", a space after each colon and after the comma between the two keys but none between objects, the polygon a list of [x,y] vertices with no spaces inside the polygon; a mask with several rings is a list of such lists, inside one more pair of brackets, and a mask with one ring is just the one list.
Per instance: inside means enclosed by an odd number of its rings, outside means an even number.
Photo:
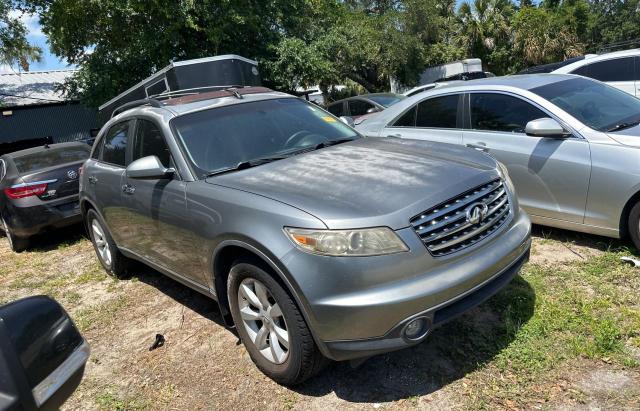
[{"label": "rear wheel of the gray SUV, with silver rim", "polygon": [[111,234],[109,234],[98,213],[94,210],[89,210],[86,221],[89,237],[100,264],[109,275],[116,278],[125,278],[128,275],[131,261],[118,250],[116,243],[111,238]]}]

